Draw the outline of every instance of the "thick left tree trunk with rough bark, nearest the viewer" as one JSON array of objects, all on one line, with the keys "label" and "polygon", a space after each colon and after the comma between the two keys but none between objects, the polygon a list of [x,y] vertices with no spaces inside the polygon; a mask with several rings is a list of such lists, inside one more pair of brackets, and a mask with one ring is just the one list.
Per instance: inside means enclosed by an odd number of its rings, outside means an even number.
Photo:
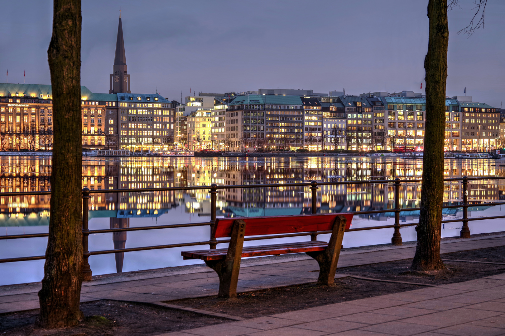
[{"label": "thick left tree trunk with rough bark, nearest the viewer", "polygon": [[[39,323],[75,325],[82,267],[81,2],[54,0],[53,36],[47,50],[53,89],[54,146],[51,217],[39,291]],[[47,147],[47,143],[45,145]]]}]

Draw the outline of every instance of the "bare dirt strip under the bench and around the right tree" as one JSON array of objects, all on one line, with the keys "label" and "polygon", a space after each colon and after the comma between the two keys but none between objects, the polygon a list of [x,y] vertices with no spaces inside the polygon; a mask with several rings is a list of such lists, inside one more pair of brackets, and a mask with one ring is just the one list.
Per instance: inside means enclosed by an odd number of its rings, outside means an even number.
[{"label": "bare dirt strip under the bench and around the right tree", "polygon": [[[483,248],[442,254],[443,259],[504,262],[505,246]],[[338,268],[338,274],[348,274],[428,285],[442,285],[468,281],[505,273],[505,265],[445,261],[448,270],[432,275],[410,271],[412,259]],[[316,271],[318,272],[318,271]],[[210,310],[244,318],[253,318],[287,311],[321,306],[383,294],[425,288],[422,285],[369,281],[355,278],[335,280],[333,288],[305,284],[241,293],[236,300],[218,299],[216,296],[167,301],[172,304]]]}]

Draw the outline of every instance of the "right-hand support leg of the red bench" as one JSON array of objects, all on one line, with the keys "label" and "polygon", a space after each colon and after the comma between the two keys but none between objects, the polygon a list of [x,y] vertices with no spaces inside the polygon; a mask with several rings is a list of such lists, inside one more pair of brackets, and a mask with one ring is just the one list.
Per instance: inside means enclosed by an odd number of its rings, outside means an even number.
[{"label": "right-hand support leg of the red bench", "polygon": [[345,225],[347,220],[344,216],[337,216],[333,224],[328,247],[324,251],[306,252],[319,263],[318,284],[326,286],[335,286],[335,272],[337,271],[338,257],[342,247]]}]

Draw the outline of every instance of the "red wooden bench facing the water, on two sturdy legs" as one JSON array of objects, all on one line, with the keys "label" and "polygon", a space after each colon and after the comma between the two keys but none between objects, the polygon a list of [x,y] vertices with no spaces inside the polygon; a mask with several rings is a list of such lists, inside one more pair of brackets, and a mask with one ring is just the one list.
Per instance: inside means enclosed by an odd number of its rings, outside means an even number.
[{"label": "red wooden bench facing the water, on two sturdy legs", "polygon": [[[216,238],[230,237],[228,248],[181,252],[184,259],[201,259],[219,276],[218,297],[236,297],[240,259],[261,255],[305,252],[319,263],[318,283],[335,285],[335,272],[345,229],[352,214],[242,217],[217,219]],[[304,241],[243,247],[245,236],[332,231],[330,241]]]}]

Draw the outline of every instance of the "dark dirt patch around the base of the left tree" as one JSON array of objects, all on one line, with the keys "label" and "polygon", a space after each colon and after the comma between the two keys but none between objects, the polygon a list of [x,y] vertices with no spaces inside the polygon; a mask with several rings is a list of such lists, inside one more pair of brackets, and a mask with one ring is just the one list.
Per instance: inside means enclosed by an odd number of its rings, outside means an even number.
[{"label": "dark dirt patch around the base of the left tree", "polygon": [[6,336],[149,336],[229,321],[147,304],[100,300],[81,304],[85,319],[76,327],[44,330],[34,326],[38,309],[0,315]]}]

